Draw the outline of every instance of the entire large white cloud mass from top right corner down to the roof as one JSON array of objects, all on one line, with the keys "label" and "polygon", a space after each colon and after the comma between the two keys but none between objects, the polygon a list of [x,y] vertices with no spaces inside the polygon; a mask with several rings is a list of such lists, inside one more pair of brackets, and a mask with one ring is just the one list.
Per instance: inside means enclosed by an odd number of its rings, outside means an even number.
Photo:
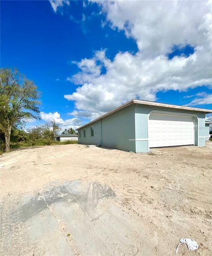
[{"label": "entire large white cloud mass from top right corner down to the roof", "polygon": [[[64,97],[75,101],[74,116],[93,119],[132,98],[155,101],[159,91],[187,91],[212,85],[209,2],[120,0],[97,3],[110,26],[135,39],[139,51],[134,55],[119,52],[110,60],[105,50],[99,50],[93,58],[73,62],[80,71],[67,80],[80,86]],[[186,44],[195,49],[189,57],[167,58],[174,45]],[[196,100],[195,104],[201,101]],[[205,97],[204,102],[210,99]]]}]

